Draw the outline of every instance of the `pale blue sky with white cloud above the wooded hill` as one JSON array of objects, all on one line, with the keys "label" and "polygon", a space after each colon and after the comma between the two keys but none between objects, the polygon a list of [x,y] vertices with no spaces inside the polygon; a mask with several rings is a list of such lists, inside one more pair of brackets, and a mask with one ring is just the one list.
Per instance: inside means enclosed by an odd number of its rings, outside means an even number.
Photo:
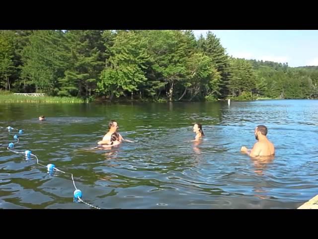
[{"label": "pale blue sky with white cloud above the wooded hill", "polygon": [[[208,30],[194,30],[196,37]],[[318,30],[210,30],[233,57],[318,66]]]}]

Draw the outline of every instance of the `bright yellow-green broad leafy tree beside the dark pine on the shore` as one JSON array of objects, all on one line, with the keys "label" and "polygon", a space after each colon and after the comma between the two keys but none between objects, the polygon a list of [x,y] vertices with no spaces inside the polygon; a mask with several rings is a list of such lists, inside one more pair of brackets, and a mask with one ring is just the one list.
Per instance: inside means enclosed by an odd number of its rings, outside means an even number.
[{"label": "bright yellow-green broad leafy tree beside the dark pine on the shore", "polygon": [[101,72],[98,92],[119,97],[138,91],[147,80],[144,70],[149,54],[145,38],[133,31],[121,31],[109,51],[111,56]]}]

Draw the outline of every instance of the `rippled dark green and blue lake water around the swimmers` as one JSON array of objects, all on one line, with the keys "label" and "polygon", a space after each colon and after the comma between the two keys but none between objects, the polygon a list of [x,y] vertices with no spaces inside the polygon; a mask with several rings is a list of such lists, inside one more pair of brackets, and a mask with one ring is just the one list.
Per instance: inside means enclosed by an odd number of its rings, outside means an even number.
[{"label": "rippled dark green and blue lake water around the swimmers", "polygon": [[[101,209],[296,209],[318,194],[317,112],[315,100],[0,104],[0,126],[23,129],[13,150],[73,173],[82,200]],[[135,142],[94,148],[110,119]],[[194,122],[206,135],[199,144],[189,142]],[[239,152],[258,124],[272,160]],[[73,202],[70,174],[6,149],[16,133],[0,128],[0,208],[91,209]]]}]

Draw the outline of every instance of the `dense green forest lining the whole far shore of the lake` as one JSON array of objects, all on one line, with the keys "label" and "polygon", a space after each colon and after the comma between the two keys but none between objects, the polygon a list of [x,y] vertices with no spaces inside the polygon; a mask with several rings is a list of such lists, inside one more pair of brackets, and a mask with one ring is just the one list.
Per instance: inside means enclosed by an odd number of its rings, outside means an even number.
[{"label": "dense green forest lining the whole far shore of the lake", "polygon": [[141,101],[318,98],[318,67],[229,56],[212,32],[0,30],[0,92]]}]

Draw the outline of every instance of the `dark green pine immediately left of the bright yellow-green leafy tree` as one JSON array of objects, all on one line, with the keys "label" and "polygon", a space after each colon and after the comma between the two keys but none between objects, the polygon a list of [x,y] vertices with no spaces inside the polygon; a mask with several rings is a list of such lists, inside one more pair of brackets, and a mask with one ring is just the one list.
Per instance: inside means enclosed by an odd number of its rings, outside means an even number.
[{"label": "dark green pine immediately left of the bright yellow-green leafy tree", "polygon": [[[70,67],[59,80],[59,95],[78,96],[91,100],[104,63],[105,47],[101,30],[70,30],[66,32]],[[99,48],[98,48],[98,47]]]}]

